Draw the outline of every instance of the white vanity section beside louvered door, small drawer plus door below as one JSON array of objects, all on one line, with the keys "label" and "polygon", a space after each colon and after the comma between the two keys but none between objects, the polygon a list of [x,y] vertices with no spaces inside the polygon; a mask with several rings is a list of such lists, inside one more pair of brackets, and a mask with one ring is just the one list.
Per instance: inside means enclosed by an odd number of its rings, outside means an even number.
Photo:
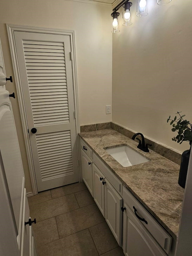
[{"label": "white vanity section beside louvered door, small drawer plus door below", "polygon": [[82,140],[80,145],[82,179],[93,197],[92,151]]}]

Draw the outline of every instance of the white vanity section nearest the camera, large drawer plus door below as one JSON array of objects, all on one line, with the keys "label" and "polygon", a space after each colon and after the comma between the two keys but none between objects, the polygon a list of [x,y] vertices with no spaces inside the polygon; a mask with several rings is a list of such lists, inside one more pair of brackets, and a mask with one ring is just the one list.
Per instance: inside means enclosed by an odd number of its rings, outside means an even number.
[{"label": "white vanity section nearest the camera, large drawer plus door below", "polygon": [[[123,187],[123,251],[127,256],[165,256],[172,237]],[[167,254],[166,254],[166,253]]]}]

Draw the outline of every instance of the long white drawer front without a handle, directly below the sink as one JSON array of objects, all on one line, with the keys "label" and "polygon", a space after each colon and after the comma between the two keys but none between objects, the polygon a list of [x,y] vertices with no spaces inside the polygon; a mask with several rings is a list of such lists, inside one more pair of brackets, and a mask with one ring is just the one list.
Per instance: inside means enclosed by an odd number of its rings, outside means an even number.
[{"label": "long white drawer front without a handle, directly below the sink", "polygon": [[101,170],[101,172],[105,175],[105,177],[113,184],[113,187],[116,191],[122,195],[122,182],[107,168],[105,164],[98,158],[98,156],[93,153],[93,162],[94,164]]}]

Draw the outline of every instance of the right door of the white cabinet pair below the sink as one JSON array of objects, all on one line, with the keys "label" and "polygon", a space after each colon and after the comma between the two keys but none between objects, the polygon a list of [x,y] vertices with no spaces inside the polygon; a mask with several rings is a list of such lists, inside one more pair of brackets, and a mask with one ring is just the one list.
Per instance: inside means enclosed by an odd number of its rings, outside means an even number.
[{"label": "right door of the white cabinet pair below the sink", "polygon": [[110,182],[105,179],[105,220],[115,236],[119,246],[122,239],[122,197]]}]

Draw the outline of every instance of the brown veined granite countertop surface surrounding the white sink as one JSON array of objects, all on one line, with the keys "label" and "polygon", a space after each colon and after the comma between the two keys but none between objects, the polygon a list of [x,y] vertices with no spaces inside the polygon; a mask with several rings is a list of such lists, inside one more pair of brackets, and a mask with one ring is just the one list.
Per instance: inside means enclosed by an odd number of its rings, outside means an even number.
[{"label": "brown veined granite countertop surface surrounding the white sink", "polygon": [[[150,152],[137,149],[137,141],[113,129],[81,132],[79,136],[176,239],[184,195],[184,188],[178,184],[179,165],[150,149]],[[123,167],[104,150],[121,144],[128,144],[151,161]]]}]

